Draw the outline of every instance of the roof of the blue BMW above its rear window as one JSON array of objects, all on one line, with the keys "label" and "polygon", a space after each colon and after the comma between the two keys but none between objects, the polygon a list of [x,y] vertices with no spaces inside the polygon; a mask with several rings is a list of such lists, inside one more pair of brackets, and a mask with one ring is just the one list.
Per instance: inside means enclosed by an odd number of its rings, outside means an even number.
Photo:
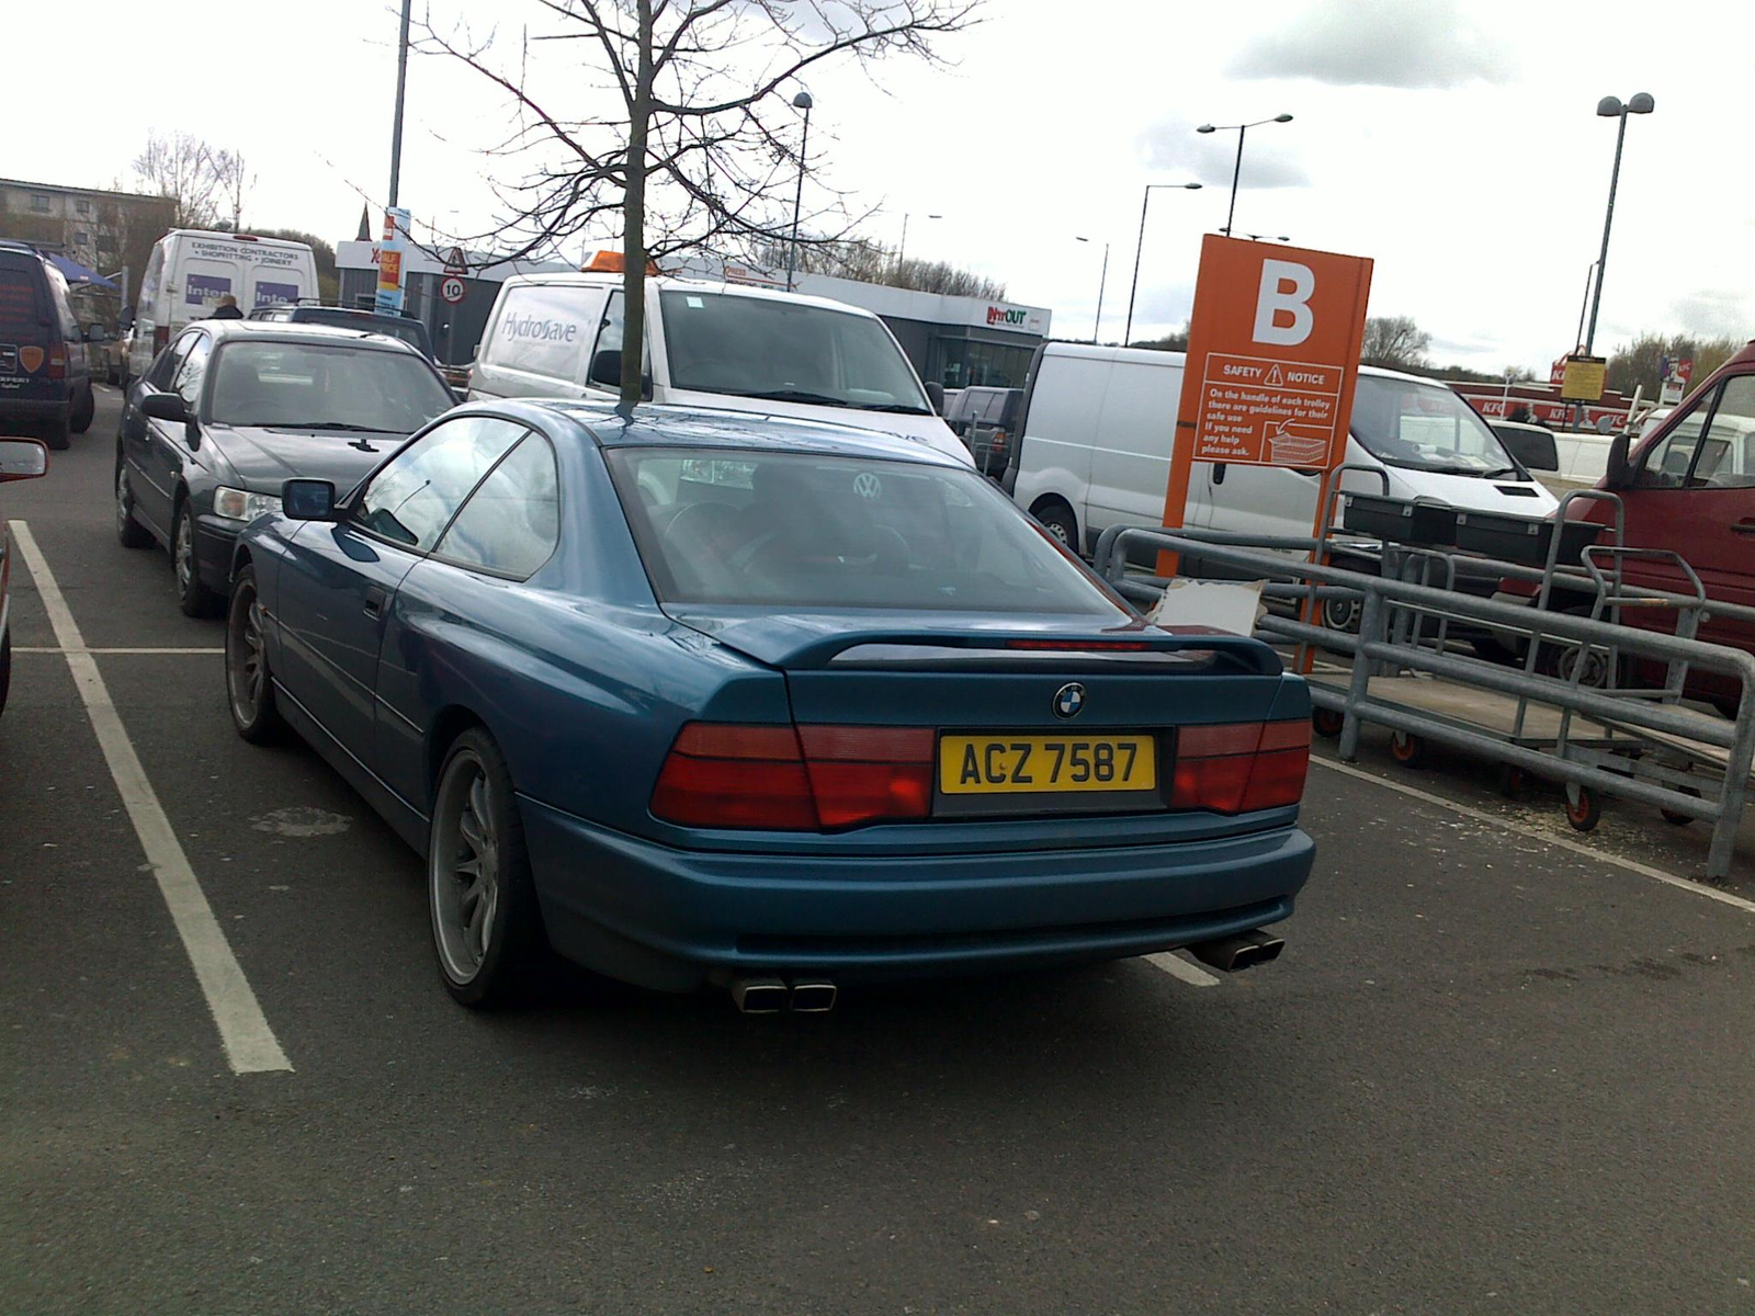
[{"label": "roof of the blue BMW above its rear window", "polygon": [[[811,421],[749,411],[720,411],[662,402],[644,402],[623,414],[614,398],[519,398],[472,402],[458,411],[562,416],[586,430],[600,447],[772,447],[825,456],[867,456],[892,461],[967,470],[963,463],[925,440],[904,439],[858,425]],[[455,414],[455,412],[453,412]]]}]

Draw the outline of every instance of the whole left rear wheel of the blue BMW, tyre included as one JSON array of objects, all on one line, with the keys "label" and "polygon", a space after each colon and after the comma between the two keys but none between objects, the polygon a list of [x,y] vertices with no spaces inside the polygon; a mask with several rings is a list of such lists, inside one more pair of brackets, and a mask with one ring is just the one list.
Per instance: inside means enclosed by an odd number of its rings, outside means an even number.
[{"label": "whole left rear wheel of the blue BMW, tyre included", "polygon": [[512,774],[481,726],[446,751],[426,832],[439,981],[460,1005],[504,1004],[546,956]]}]

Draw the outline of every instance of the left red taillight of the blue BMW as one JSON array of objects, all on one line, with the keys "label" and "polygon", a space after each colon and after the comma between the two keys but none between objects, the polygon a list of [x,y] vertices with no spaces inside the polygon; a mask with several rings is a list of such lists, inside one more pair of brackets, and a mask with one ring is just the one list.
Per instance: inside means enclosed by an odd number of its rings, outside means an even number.
[{"label": "left red taillight of the blue BMW", "polygon": [[932,812],[930,728],[690,723],[651,811],[679,826],[816,832]]}]

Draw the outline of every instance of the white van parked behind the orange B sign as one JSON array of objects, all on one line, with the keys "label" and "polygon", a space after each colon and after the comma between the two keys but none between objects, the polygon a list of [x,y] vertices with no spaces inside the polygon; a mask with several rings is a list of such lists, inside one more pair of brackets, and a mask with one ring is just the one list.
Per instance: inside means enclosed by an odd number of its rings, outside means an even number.
[{"label": "white van parked behind the orange B sign", "polygon": [[[1111,525],[1162,525],[1185,361],[1183,353],[1042,344],[1004,479],[1018,505],[1086,553]],[[1420,375],[1360,367],[1346,460],[1383,470],[1392,498],[1516,516],[1557,505],[1467,402]],[[1318,484],[1316,472],[1197,463],[1185,525],[1309,537]],[[1341,486],[1383,491],[1358,472]]]}]

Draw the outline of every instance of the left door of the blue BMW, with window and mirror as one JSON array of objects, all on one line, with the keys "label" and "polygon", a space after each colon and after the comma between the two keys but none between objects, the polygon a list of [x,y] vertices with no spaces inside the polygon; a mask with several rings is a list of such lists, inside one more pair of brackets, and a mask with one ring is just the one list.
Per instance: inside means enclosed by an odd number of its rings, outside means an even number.
[{"label": "left door of the blue BMW, with window and mirror", "polygon": [[281,683],[335,742],[374,767],[377,656],[402,577],[525,426],[437,423],[377,468],[333,523],[293,535],[279,572]]}]

